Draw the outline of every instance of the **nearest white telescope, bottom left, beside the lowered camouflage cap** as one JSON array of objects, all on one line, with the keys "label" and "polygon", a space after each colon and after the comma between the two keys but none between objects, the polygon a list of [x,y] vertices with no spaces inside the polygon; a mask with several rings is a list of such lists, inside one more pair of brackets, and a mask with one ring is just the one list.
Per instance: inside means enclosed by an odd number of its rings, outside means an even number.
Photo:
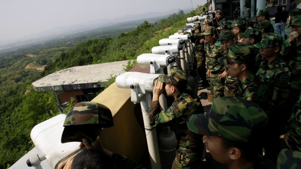
[{"label": "nearest white telescope, bottom left, beside the lowered camouflage cap", "polygon": [[30,137],[40,153],[30,157],[26,163],[34,167],[46,159],[51,169],[55,169],[61,162],[81,150],[80,142],[61,143],[66,116],[66,114],[59,114],[33,127]]}]

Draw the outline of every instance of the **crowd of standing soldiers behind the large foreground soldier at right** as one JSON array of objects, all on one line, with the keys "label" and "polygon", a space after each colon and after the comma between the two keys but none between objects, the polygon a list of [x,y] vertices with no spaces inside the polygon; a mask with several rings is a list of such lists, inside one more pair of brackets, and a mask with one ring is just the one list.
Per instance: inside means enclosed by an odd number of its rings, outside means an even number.
[{"label": "crowd of standing soldiers behind the large foreground soldier at right", "polygon": [[267,114],[261,140],[274,164],[284,148],[301,151],[301,9],[289,15],[286,40],[274,32],[268,10],[250,21],[235,15],[233,23],[223,21],[218,27],[205,19],[195,27],[203,32],[193,35],[205,40],[196,47],[200,87],[209,81],[213,106],[218,97],[232,96],[257,104]]}]

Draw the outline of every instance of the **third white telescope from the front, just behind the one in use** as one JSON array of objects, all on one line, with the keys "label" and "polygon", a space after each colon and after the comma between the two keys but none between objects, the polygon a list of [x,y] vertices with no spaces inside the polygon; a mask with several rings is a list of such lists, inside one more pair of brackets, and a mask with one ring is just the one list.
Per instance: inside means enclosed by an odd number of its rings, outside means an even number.
[{"label": "third white telescope from the front, just behind the one in use", "polygon": [[[165,53],[163,53],[165,54]],[[144,53],[137,57],[138,64],[151,65],[151,74],[163,74],[164,67],[172,67],[175,62],[175,57],[173,55],[159,55],[152,53]]]}]

